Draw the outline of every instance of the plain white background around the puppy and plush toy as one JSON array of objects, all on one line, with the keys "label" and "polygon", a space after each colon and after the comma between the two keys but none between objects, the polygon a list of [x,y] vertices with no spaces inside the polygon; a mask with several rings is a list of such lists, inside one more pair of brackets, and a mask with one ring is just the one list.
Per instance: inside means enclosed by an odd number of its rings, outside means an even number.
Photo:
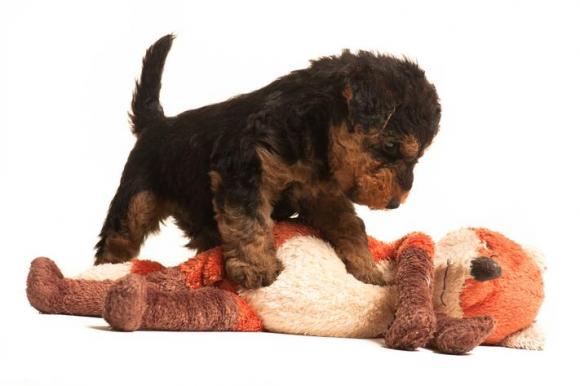
[{"label": "plain white background around the puppy and plush toy", "polygon": [[[0,5],[0,384],[546,383],[577,362],[580,10],[546,1],[42,1]],[[360,208],[370,234],[434,237],[482,225],[547,258],[544,352],[451,357],[380,341],[274,334],[113,333],[39,315],[30,260],[92,263],[134,138],[127,111],[145,49],[175,32],[168,115],[261,87],[342,48],[415,58],[438,88],[441,131],[407,203]],[[191,255],[173,225],[141,256]],[[576,358],[576,359],[574,359]],[[571,377],[571,378],[570,378]]]}]

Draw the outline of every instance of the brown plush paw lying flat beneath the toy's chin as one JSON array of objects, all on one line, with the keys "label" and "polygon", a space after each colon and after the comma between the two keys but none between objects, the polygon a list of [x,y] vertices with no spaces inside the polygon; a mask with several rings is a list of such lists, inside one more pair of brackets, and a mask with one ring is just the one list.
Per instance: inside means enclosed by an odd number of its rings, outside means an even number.
[{"label": "brown plush paw lying flat beneath the toy's chin", "polygon": [[452,318],[437,313],[437,328],[427,346],[445,354],[465,354],[479,346],[494,325],[489,316]]}]

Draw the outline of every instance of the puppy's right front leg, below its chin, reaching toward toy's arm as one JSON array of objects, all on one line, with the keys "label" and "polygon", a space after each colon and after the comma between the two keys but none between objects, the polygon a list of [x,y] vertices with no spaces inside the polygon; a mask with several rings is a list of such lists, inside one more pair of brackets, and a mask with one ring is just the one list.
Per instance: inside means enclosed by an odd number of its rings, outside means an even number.
[{"label": "puppy's right front leg, below its chin, reaching toward toy's arm", "polygon": [[318,194],[306,204],[304,217],[333,245],[354,277],[369,284],[385,284],[369,252],[364,222],[346,196],[335,192]]}]

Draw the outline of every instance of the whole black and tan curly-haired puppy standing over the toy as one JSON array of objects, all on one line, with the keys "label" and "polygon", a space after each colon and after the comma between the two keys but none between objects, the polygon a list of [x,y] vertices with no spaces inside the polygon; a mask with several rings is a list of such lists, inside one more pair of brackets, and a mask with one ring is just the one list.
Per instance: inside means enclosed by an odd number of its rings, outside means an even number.
[{"label": "whole black and tan curly-haired puppy standing over the toy", "polygon": [[136,257],[173,216],[200,250],[224,245],[228,276],[255,288],[281,270],[272,219],[299,214],[354,276],[380,284],[353,202],[396,208],[437,133],[440,105],[423,71],[369,52],[313,61],[254,92],[166,117],[161,73],[173,36],[143,59],[137,136],[96,245],[96,263]]}]

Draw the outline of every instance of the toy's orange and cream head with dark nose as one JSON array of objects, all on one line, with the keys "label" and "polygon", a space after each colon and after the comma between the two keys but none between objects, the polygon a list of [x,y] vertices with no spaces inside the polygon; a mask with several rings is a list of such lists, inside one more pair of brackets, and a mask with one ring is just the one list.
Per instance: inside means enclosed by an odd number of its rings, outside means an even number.
[{"label": "toy's orange and cream head with dark nose", "polygon": [[491,316],[486,344],[539,349],[534,320],[544,298],[540,255],[500,233],[464,228],[447,234],[435,253],[435,308],[452,316]]}]

